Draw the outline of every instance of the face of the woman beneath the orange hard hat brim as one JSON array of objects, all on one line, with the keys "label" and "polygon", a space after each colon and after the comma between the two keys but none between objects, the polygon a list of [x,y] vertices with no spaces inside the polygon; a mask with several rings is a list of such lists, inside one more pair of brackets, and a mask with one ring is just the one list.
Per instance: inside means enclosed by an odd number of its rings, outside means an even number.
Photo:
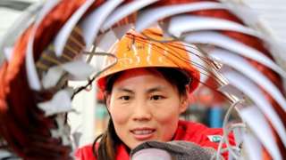
[{"label": "face of the woman beneath the orange hard hat brim", "polygon": [[168,141],[188,103],[157,71],[124,71],[106,97],[118,137],[130,148],[147,140]]}]

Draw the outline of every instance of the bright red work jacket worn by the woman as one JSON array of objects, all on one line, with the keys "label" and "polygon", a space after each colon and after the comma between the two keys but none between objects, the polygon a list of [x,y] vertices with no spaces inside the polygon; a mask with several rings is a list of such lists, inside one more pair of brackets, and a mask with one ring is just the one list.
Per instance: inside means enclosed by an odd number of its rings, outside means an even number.
[{"label": "bright red work jacket worn by the woman", "polygon": [[[219,137],[222,135],[222,129],[207,128],[203,124],[180,120],[173,140],[186,140],[197,143],[201,147],[217,149]],[[229,136],[229,140],[231,145],[234,145],[232,135]],[[225,148],[225,146],[223,146],[223,148]],[[116,152],[116,160],[130,160],[129,153],[126,151],[123,144],[117,147]],[[91,145],[79,148],[75,156],[77,160],[97,160],[92,154]],[[227,159],[227,153],[223,154],[223,156]]]}]

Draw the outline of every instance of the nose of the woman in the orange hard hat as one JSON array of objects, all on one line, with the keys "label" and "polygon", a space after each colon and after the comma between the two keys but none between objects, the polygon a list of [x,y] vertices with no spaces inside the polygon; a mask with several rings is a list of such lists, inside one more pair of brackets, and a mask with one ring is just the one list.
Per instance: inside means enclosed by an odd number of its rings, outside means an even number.
[{"label": "nose of the woman in the orange hard hat", "polygon": [[134,121],[149,121],[151,118],[151,110],[147,107],[147,104],[144,102],[144,100],[136,101],[133,108],[132,119]]}]

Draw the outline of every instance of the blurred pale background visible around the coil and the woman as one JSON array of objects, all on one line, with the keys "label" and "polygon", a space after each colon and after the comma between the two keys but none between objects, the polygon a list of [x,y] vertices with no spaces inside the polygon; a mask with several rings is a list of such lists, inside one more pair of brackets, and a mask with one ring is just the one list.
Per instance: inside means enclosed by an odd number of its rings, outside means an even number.
[{"label": "blurred pale background visible around the coil and the woman", "polygon": [[[39,0],[0,0],[0,39],[13,26],[13,22],[30,4]],[[238,0],[253,8],[259,19],[265,25],[263,29],[277,39],[282,46],[286,46],[286,1],[285,0]],[[286,47],[285,47],[286,48]],[[0,55],[0,59],[1,59]],[[281,56],[282,57],[282,56]],[[285,57],[285,56],[284,56]],[[92,64],[100,65],[99,60],[93,59]],[[286,69],[286,60],[279,60],[282,68]],[[71,86],[80,86],[86,82],[70,82]],[[212,81],[206,79],[206,84]],[[223,116],[228,107],[227,101],[217,92],[201,85],[189,98],[189,109],[181,118],[200,122],[210,127],[221,127]],[[105,130],[108,113],[105,109],[104,96],[95,85],[87,91],[80,92],[72,101],[76,110],[69,115],[71,133],[79,146],[92,142],[95,137]],[[237,119],[235,115],[232,119]]]}]

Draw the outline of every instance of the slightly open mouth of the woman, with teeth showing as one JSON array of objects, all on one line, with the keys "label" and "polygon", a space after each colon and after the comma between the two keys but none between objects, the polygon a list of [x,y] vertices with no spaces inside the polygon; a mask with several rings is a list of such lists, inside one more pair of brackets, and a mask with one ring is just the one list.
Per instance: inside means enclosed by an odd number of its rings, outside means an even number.
[{"label": "slightly open mouth of the woman, with teeth showing", "polygon": [[136,128],[130,131],[136,140],[148,140],[152,138],[156,129],[152,128]]}]

